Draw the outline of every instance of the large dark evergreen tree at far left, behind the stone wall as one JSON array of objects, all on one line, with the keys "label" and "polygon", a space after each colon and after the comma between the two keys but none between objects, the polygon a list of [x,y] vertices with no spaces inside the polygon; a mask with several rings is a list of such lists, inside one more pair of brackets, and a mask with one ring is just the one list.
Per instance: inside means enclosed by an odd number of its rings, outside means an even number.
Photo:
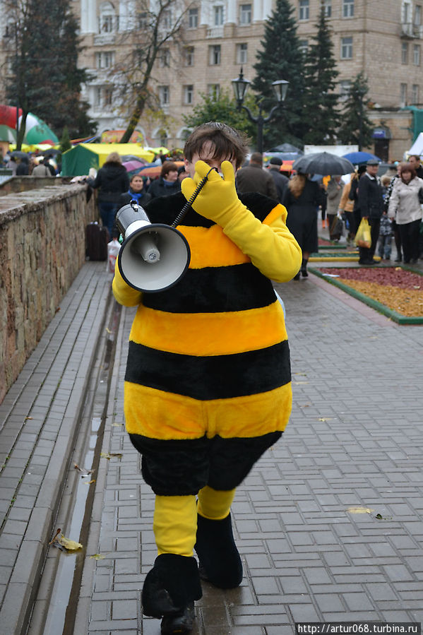
[{"label": "large dark evergreen tree at far left, behind the stone wall", "polygon": [[[5,0],[9,20],[6,48],[12,73],[6,77],[6,95],[23,110],[23,124],[33,112],[61,135],[64,126],[72,137],[88,136],[95,122],[81,100],[81,84],[88,79],[77,65],[81,47],[78,23],[69,0]],[[18,144],[22,142],[22,125]]]}]

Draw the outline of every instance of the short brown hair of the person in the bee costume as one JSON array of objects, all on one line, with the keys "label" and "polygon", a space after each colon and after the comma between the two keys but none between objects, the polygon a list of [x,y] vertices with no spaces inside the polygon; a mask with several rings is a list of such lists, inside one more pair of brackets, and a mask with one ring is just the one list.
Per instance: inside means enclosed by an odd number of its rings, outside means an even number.
[{"label": "short brown hair of the person in the bee costume", "polygon": [[237,131],[220,121],[208,121],[201,124],[187,138],[184,146],[186,160],[192,161],[193,155],[201,155],[206,141],[214,146],[213,159],[225,158],[242,165],[248,153],[249,139],[244,132]]}]

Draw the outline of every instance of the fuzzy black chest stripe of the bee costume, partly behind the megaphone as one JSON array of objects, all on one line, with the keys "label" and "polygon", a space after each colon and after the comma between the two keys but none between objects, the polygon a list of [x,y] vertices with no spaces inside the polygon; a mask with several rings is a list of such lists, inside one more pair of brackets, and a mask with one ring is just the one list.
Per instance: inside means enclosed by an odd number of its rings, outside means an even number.
[{"label": "fuzzy black chest stripe of the bee costume, partly behind the megaphone", "polygon": [[174,287],[143,297],[145,307],[170,313],[244,311],[272,302],[272,283],[251,263],[189,269]]}]

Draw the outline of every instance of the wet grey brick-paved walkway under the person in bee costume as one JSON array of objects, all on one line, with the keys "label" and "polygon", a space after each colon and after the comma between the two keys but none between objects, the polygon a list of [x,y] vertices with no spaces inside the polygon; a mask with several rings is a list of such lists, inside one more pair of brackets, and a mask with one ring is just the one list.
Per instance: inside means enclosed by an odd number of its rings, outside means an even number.
[{"label": "wet grey brick-paved walkway under the person in bee costume", "polygon": [[[292,634],[295,622],[422,622],[423,327],[398,326],[314,275],[277,289],[287,311],[292,417],[234,500],[242,586],[204,583],[193,635]],[[102,437],[109,458],[100,458],[91,486],[75,635],[160,632],[140,604],[155,559],[153,495],[122,416],[132,317],[133,309],[121,311]],[[368,511],[350,509],[357,507]],[[49,632],[35,622],[29,631]]]}]

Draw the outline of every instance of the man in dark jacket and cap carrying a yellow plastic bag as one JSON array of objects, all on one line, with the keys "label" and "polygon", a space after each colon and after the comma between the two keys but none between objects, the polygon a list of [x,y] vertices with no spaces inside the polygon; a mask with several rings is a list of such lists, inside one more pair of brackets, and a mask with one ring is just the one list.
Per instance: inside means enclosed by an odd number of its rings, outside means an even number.
[{"label": "man in dark jacket and cap carrying a yellow plastic bag", "polygon": [[379,238],[379,228],[381,225],[381,215],[383,213],[383,190],[381,181],[377,176],[379,161],[369,159],[367,169],[359,180],[358,203],[360,215],[366,218],[370,225],[371,247],[359,247],[359,264],[374,265],[374,250]]}]

